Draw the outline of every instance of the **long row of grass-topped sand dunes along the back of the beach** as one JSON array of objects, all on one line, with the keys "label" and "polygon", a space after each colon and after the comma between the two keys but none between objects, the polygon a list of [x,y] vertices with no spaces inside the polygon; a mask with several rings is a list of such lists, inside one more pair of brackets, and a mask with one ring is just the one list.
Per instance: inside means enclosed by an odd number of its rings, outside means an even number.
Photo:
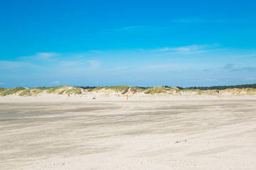
[{"label": "long row of grass-topped sand dunes along the back of the beach", "polygon": [[[212,95],[212,96],[238,96],[247,94],[256,94],[256,89],[246,88],[246,89],[211,89],[206,88],[206,90],[192,89],[192,88],[179,88],[171,86],[156,86],[156,87],[139,87],[139,86],[52,86],[52,87],[14,87],[11,89],[0,88],[0,96],[41,96],[43,94],[51,95],[65,95],[65,96],[82,96],[82,95],[97,95],[97,94],[113,94],[113,95],[125,95],[125,94],[144,94],[144,95]],[[107,96],[105,95],[105,96]]]}]

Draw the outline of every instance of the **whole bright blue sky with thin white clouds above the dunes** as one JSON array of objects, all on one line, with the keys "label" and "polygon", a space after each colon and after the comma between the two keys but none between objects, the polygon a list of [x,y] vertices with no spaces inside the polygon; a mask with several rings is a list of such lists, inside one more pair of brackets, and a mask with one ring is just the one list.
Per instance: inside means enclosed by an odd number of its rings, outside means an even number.
[{"label": "whole bright blue sky with thin white clouds above the dunes", "polygon": [[0,2],[0,86],[256,83],[255,1]]}]

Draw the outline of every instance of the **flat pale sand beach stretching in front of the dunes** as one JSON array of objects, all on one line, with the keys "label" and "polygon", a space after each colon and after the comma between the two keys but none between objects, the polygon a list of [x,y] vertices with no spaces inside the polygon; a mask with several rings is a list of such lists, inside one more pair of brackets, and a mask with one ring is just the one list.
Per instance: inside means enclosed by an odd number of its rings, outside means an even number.
[{"label": "flat pale sand beach stretching in front of the dunes", "polygon": [[0,102],[0,169],[256,169],[256,100]]}]

